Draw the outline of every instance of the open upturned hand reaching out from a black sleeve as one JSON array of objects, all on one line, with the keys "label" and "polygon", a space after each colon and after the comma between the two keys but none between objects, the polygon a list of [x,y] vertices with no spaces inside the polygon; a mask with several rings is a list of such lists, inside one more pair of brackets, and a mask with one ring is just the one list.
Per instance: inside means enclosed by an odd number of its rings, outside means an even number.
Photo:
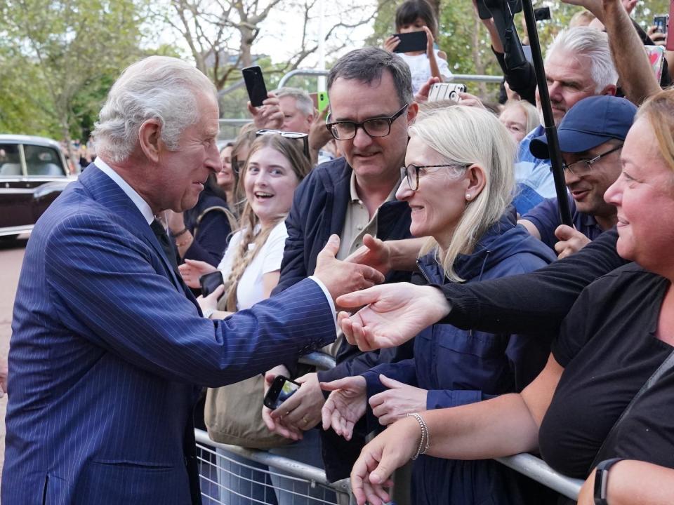
[{"label": "open upturned hand reaching out from a black sleeve", "polygon": [[411,283],[378,285],[336,300],[345,309],[363,307],[337,322],[348,342],[361,351],[399,346],[449,314],[449,302],[432,286]]}]

